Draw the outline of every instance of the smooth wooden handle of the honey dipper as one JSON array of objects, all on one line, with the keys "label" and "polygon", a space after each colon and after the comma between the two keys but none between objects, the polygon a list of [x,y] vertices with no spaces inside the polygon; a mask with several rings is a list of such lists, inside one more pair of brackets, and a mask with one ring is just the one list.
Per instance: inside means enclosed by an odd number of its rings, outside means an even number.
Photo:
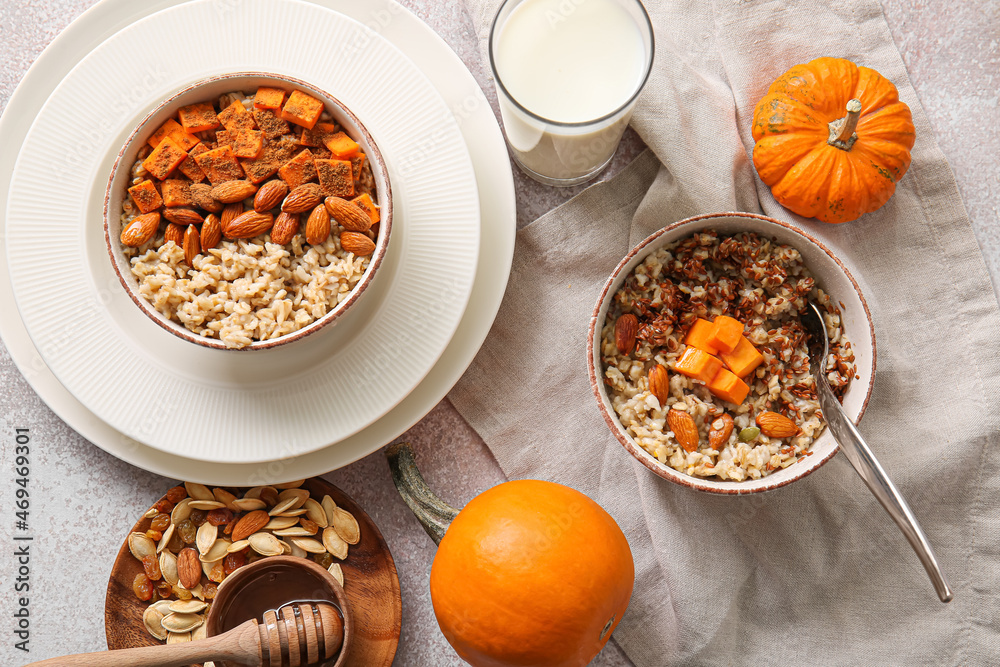
[{"label": "smooth wooden handle of the honey dipper", "polygon": [[260,665],[262,656],[257,621],[249,620],[217,637],[194,642],[78,653],[32,662],[25,667],[183,667],[207,660]]}]

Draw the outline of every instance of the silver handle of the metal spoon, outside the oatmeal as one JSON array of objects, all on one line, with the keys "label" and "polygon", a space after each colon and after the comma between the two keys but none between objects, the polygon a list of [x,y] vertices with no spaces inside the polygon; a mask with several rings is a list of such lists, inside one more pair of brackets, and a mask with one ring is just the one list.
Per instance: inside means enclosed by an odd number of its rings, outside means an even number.
[{"label": "silver handle of the metal spoon, outside the oatmeal", "polygon": [[951,588],[945,581],[937,558],[934,557],[934,551],[931,549],[924,531],[920,528],[920,524],[917,523],[916,517],[913,516],[910,506],[900,495],[889,476],[885,474],[885,470],[875,458],[864,438],[861,437],[857,427],[844,414],[844,409],[833,395],[833,390],[822,380],[822,376],[818,380],[816,385],[818,386],[819,403],[823,408],[823,416],[826,418],[826,423],[830,426],[833,436],[840,443],[847,460],[851,462],[858,475],[864,480],[885,511],[889,513],[892,520],[896,522],[899,529],[903,531],[903,535],[906,536],[924,569],[927,570],[941,602],[950,602],[952,598]]}]

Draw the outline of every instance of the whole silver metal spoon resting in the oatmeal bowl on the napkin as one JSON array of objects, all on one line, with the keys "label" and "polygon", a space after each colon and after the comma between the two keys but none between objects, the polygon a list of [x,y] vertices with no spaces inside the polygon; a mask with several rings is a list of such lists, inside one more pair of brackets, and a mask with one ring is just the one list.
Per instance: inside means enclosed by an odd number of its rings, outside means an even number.
[{"label": "whole silver metal spoon resting in the oatmeal bowl on the napkin", "polygon": [[944,574],[938,566],[934,551],[927,541],[927,536],[924,535],[916,517],[913,516],[910,506],[906,504],[896,485],[885,474],[882,465],[872,454],[872,450],[865,443],[853,422],[847,418],[840,401],[830,389],[826,379],[826,360],[829,358],[830,349],[823,316],[816,304],[809,303],[809,308],[803,314],[802,323],[809,332],[809,366],[816,379],[819,404],[823,409],[823,417],[830,427],[830,432],[840,443],[840,448],[847,456],[847,460],[854,466],[869,490],[889,513],[892,520],[896,522],[899,529],[903,531],[903,535],[906,536],[910,546],[920,558],[920,562],[923,563],[924,569],[927,570],[941,602],[950,602],[952,598],[951,588],[949,588],[948,582],[945,581]]}]

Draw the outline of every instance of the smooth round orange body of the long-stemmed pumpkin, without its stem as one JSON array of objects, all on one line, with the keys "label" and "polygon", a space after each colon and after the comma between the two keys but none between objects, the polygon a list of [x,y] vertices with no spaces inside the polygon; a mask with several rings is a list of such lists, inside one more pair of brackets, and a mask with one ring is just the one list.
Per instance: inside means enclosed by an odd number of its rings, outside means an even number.
[{"label": "smooth round orange body of the long-stemmed pumpkin, without its stem", "polygon": [[632,595],[628,541],[593,500],[567,486],[507,482],[448,527],[431,568],[445,638],[476,667],[582,667]]}]

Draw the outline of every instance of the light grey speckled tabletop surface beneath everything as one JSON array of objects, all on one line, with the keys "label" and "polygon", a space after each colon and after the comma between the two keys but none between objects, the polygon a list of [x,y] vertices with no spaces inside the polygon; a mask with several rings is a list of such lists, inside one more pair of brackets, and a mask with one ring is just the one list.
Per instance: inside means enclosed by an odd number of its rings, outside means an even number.
[{"label": "light grey speckled tabletop surface beneath everything", "polygon": [[[361,1],[361,0],[359,0]],[[0,108],[41,50],[88,0],[0,0]],[[466,62],[495,100],[472,24],[461,3],[405,0]],[[915,4],[883,0],[921,104],[958,181],[994,284],[1000,280],[1000,15],[990,0]],[[3,149],[3,147],[0,147]],[[641,149],[628,135],[611,172]],[[575,194],[538,185],[515,173],[523,225]],[[0,313],[0,317],[14,317]],[[171,485],[105,454],[81,438],[34,394],[0,346],[0,664],[21,665],[104,646],[104,588],[125,531]],[[32,653],[13,649],[9,622],[15,572],[9,548],[13,517],[11,472],[15,428],[33,441]],[[430,483],[462,504],[502,479],[476,434],[444,401],[407,435]],[[403,589],[403,632],[396,664],[459,665],[437,630],[427,594],[434,549],[392,488],[381,453],[327,478],[351,494],[378,523],[392,549]],[[650,632],[656,632],[651,628]],[[625,665],[613,645],[597,665]]]}]

